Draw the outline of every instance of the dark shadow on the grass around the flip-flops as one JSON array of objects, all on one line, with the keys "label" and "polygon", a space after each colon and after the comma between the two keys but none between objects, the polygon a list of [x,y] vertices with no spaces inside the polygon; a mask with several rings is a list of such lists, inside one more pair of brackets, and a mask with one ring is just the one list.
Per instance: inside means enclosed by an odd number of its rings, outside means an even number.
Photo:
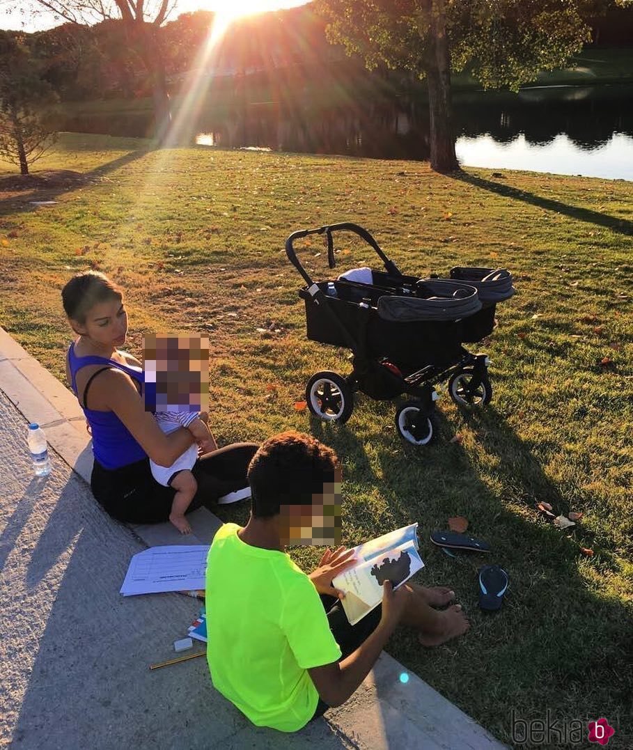
[{"label": "dark shadow on the grass around the flip-flops", "polygon": [[[606,716],[616,736],[630,737],[631,611],[606,588],[616,561],[599,549],[583,557],[580,546],[589,547],[590,539],[580,525],[562,532],[537,517],[536,498],[558,513],[570,509],[564,488],[547,477],[502,416],[490,409],[469,421],[487,454],[483,472],[446,435],[422,450],[397,443],[395,435],[381,441],[386,479],[380,491],[392,527],[419,522],[426,564],[419,581],[455,589],[470,622],[466,636],[438,649],[423,649],[415,634],[399,631],[389,651],[513,746],[520,745],[520,734],[511,736],[513,710],[514,718],[536,721],[549,709],[558,727],[579,719],[582,739],[588,721]],[[451,558],[431,544],[431,532],[446,529],[455,515],[469,520],[469,533],[487,541],[490,554]],[[387,530],[379,523],[371,528],[374,535]],[[496,613],[478,609],[478,568],[487,563],[501,565],[510,578]],[[550,739],[547,746],[569,745]],[[631,745],[624,740],[622,746]]]}]

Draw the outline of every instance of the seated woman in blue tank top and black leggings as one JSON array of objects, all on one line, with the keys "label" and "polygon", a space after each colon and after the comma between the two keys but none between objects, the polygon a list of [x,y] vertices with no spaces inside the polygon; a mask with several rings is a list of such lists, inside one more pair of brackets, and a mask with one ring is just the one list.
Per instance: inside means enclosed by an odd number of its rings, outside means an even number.
[{"label": "seated woman in blue tank top and black leggings", "polygon": [[[149,458],[171,466],[193,445],[193,435],[185,428],[166,435],[145,411],[142,365],[117,348],[127,335],[121,290],[91,271],[66,284],[62,301],[79,336],[68,349],[66,370],[92,434],[92,493],[118,520],[166,521],[175,490],[154,480]],[[255,443],[236,443],[201,456],[192,469],[198,491],[189,510],[247,487],[246,472],[256,451]]]}]

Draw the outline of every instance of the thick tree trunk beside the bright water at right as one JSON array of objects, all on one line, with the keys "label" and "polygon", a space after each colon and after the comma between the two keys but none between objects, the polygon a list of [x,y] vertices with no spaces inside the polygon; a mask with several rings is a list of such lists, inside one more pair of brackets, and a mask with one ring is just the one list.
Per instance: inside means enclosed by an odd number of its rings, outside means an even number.
[{"label": "thick tree trunk beside the bright water at right", "polygon": [[427,59],[428,109],[431,125],[431,169],[446,174],[459,169],[451,103],[451,55],[444,0],[431,10]]}]

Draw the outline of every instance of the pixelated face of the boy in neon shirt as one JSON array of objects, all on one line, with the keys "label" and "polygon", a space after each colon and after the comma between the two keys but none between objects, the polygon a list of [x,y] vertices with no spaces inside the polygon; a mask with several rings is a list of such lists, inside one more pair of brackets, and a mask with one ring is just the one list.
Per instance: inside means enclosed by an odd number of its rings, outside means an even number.
[{"label": "pixelated face of the boy in neon shirt", "polygon": [[311,504],[281,504],[279,530],[282,544],[341,544],[341,468],[335,469],[323,492]]}]

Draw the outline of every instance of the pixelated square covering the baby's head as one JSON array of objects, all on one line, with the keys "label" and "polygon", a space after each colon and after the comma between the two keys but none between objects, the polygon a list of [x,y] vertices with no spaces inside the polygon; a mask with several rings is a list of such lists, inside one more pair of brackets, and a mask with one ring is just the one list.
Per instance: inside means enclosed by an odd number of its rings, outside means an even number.
[{"label": "pixelated square covering the baby's head", "polygon": [[142,347],[146,411],[208,410],[208,337],[146,334]]}]

